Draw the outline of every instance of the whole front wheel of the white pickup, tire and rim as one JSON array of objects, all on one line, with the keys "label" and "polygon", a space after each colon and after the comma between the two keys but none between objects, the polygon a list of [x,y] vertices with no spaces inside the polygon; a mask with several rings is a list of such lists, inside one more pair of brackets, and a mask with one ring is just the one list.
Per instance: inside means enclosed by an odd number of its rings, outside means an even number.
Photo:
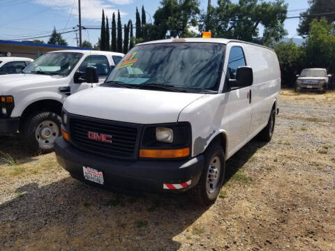
[{"label": "whole front wheel of the white pickup, tire and rim", "polygon": [[29,151],[52,150],[61,135],[61,117],[54,112],[36,112],[24,119],[21,133]]}]

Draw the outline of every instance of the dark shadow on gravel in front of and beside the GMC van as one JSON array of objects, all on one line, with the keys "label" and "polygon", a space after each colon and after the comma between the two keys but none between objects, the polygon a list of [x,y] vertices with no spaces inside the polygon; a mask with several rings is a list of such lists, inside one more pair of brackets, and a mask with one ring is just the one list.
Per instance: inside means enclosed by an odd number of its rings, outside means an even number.
[{"label": "dark shadow on gravel in front of and beside the GMC van", "polygon": [[[253,140],[234,155],[226,180],[262,146]],[[177,250],[181,241],[174,238],[207,211],[188,194],[134,197],[73,178],[44,186],[32,182],[16,192],[0,205],[5,250]]]}]

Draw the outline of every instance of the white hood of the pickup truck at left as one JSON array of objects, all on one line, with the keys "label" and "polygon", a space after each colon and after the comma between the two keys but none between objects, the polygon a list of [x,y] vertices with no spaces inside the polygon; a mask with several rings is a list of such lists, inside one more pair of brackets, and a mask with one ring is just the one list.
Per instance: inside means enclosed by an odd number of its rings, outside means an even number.
[{"label": "white hood of the pickup truck at left", "polygon": [[12,95],[13,91],[25,88],[34,88],[42,83],[53,82],[54,79],[62,78],[57,75],[38,75],[38,74],[10,74],[0,75],[0,94]]}]

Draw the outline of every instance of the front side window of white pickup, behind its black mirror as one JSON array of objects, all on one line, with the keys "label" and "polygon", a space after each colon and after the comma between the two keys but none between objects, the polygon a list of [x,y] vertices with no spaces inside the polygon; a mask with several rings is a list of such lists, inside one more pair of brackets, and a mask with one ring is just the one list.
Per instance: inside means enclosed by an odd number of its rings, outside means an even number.
[{"label": "front side window of white pickup, behind its black mirror", "polygon": [[87,67],[96,68],[96,73],[98,73],[99,77],[107,77],[107,75],[110,74],[110,66],[107,57],[103,55],[87,56],[87,58],[82,61],[78,71],[84,73]]}]

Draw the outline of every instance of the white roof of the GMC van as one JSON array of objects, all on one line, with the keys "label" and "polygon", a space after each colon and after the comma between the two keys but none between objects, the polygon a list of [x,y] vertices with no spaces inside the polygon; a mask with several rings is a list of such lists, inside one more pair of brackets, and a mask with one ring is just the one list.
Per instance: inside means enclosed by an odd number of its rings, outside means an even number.
[{"label": "white roof of the GMC van", "polygon": [[263,47],[265,49],[272,50],[269,47],[263,46],[263,45],[258,45],[255,43],[249,43],[241,40],[235,40],[235,39],[226,39],[226,38],[172,38],[172,39],[163,39],[163,40],[155,40],[155,41],[150,41],[146,43],[140,43],[137,45],[149,45],[149,44],[154,44],[154,43],[187,43],[187,42],[193,42],[193,43],[222,43],[227,45],[228,43],[245,43],[248,45],[255,45],[258,47]]}]

